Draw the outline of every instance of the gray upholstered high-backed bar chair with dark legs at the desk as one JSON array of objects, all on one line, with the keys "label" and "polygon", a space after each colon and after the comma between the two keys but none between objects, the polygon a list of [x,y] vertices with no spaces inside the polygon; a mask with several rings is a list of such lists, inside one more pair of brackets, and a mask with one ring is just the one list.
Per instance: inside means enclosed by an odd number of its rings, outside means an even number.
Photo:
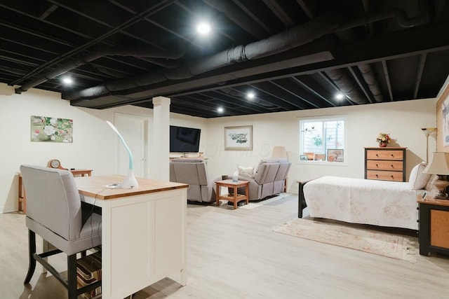
[{"label": "gray upholstered high-backed bar chair with dark legs at the desk", "polygon": [[[101,245],[101,215],[93,206],[81,207],[81,200],[71,172],[32,165],[20,166],[27,192],[26,225],[29,237],[29,268],[24,284],[31,280],[36,260],[43,265],[68,291],[68,298],[91,291],[101,285],[96,281],[77,288],[76,255]],[[36,253],[36,234],[56,249]],[[57,253],[67,254],[67,280],[44,258]]]}]

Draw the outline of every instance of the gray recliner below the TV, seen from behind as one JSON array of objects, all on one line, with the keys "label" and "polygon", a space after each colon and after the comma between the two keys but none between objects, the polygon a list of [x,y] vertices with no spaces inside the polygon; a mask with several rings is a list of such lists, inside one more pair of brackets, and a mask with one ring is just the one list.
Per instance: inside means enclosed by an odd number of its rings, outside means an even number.
[{"label": "gray recliner below the TV, seen from behind", "polygon": [[205,160],[173,159],[170,161],[170,181],[188,183],[187,200],[194,202],[215,202],[215,181],[221,176],[209,179]]}]

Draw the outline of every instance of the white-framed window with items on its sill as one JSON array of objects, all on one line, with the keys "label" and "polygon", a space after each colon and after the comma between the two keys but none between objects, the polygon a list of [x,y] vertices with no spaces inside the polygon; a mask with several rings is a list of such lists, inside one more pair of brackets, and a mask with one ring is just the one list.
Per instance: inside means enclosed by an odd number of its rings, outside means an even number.
[{"label": "white-framed window with items on its sill", "polygon": [[344,162],[344,118],[301,118],[300,161]]}]

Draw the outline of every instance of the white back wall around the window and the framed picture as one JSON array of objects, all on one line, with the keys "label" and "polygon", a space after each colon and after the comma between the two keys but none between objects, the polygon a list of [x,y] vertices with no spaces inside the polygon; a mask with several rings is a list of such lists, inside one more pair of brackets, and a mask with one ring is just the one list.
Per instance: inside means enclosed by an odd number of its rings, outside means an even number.
[{"label": "white back wall around the window and the framed picture", "polygon": [[[378,146],[375,139],[387,132],[396,139],[397,146],[407,147],[407,177],[418,162],[426,160],[426,137],[421,127],[436,127],[436,99],[421,99],[363,106],[345,106],[307,111],[234,116],[208,120],[210,174],[232,174],[237,165],[257,166],[262,158],[269,158],[274,146],[285,146],[293,162],[288,175],[288,191],[297,192],[297,180],[324,175],[364,177],[364,147]],[[347,163],[339,165],[310,165],[298,162],[297,118],[313,116],[346,116]],[[253,125],[253,151],[224,151],[224,127]],[[429,137],[429,159],[435,151],[436,139]]]}]

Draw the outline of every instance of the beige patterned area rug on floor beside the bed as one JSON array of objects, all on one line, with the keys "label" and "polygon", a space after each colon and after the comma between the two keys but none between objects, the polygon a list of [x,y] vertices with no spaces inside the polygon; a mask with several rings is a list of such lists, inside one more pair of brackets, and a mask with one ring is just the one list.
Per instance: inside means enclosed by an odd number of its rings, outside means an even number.
[{"label": "beige patterned area rug on floor beside the bed", "polygon": [[369,228],[351,228],[347,225],[323,223],[303,218],[283,221],[273,231],[389,258],[407,260],[410,263],[415,263],[417,260],[417,238],[414,237],[378,232]]}]

